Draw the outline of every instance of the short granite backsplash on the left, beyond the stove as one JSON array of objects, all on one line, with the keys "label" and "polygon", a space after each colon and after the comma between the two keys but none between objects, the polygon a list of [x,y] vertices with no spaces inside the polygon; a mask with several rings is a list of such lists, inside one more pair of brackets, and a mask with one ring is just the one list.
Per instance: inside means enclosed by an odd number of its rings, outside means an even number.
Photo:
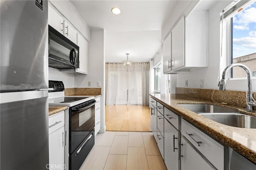
[{"label": "short granite backsplash on the left, beyond the stove", "polygon": [[90,94],[101,94],[101,88],[66,88],[64,91],[65,96],[71,96],[75,94],[79,95],[90,95]]}]

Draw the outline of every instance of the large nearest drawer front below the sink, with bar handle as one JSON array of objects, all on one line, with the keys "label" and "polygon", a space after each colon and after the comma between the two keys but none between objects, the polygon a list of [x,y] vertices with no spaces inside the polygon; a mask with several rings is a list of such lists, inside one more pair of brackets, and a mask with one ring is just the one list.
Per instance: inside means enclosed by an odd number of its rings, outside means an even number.
[{"label": "large nearest drawer front below the sink, with bar handle", "polygon": [[[181,120],[181,133],[198,149],[218,170],[224,169],[224,146],[206,135],[204,132]],[[194,140],[193,140],[194,139]],[[202,142],[202,143],[196,143]],[[200,145],[200,146],[198,146]]]}]

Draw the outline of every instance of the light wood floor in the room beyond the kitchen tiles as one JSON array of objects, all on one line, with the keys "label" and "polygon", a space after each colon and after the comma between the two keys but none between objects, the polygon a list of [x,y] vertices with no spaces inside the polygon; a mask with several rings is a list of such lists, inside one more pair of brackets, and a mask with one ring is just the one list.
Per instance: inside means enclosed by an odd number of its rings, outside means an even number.
[{"label": "light wood floor in the room beyond the kitchen tiles", "polygon": [[106,131],[151,132],[148,106],[109,105],[105,113]]}]

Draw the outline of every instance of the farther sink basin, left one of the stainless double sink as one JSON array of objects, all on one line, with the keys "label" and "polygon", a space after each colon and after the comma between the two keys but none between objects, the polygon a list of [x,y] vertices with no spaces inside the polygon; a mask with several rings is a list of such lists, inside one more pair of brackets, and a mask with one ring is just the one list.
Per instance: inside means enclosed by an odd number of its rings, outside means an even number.
[{"label": "farther sink basin, left one of the stainless double sink", "polygon": [[233,109],[210,104],[178,104],[178,106],[181,106],[195,113],[238,113],[238,111]]}]

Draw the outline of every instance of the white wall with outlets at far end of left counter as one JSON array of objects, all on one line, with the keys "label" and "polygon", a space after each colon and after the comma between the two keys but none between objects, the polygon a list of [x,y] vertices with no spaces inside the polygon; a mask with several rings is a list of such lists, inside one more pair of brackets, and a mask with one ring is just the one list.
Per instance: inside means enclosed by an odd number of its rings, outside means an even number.
[{"label": "white wall with outlets at far end of left counter", "polygon": [[[76,88],[98,88],[97,81],[101,82],[100,97],[100,132],[106,130],[105,125],[105,47],[104,29],[91,29],[88,43],[88,74],[75,75]],[[88,86],[88,81],[91,86]]]}]

